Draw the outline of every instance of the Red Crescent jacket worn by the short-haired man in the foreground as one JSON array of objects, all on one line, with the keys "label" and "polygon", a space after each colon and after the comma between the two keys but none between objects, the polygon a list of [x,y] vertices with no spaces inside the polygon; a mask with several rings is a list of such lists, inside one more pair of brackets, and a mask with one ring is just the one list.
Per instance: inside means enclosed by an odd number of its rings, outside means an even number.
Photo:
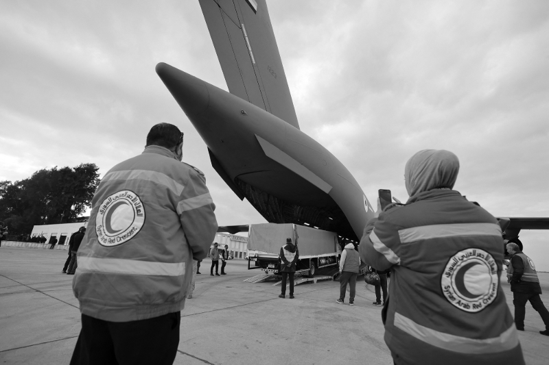
[{"label": "Red Crescent jacket worn by the short-haired man in the foreground", "polygon": [[106,173],[73,279],[83,314],[127,322],[185,307],[193,257],[206,257],[218,229],[205,182],[159,146]]}]

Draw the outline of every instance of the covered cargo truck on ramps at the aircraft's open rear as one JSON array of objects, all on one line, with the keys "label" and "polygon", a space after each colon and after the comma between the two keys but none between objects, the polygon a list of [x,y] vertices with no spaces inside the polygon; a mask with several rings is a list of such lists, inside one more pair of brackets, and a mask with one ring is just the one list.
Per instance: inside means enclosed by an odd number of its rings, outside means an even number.
[{"label": "covered cargo truck on ramps at the aircraft's open rear", "polygon": [[279,274],[279,253],[286,238],[292,238],[299,250],[296,273],[313,277],[320,268],[337,267],[341,249],[336,233],[292,223],[264,223],[250,225],[248,270]]}]

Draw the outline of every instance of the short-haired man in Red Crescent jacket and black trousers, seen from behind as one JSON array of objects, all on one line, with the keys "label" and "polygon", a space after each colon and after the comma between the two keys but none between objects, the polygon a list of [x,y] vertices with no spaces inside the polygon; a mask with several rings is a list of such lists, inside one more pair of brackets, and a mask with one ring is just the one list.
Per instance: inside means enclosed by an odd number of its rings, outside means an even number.
[{"label": "short-haired man in Red Crescent jacket and black trousers, seen from behind", "polygon": [[204,175],[182,163],[183,133],[154,125],[141,155],[95,191],[73,292],[82,331],[71,364],[172,364],[193,259],[218,223]]}]

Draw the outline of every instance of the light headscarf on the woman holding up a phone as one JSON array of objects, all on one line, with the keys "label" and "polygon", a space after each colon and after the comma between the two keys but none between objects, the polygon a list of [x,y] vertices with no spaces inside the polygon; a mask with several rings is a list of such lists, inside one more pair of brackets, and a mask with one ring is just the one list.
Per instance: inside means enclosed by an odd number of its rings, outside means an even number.
[{"label": "light headscarf on the woman holding up a phone", "polygon": [[413,155],[404,168],[410,197],[434,188],[452,189],[459,172],[458,156],[444,149],[424,149]]}]

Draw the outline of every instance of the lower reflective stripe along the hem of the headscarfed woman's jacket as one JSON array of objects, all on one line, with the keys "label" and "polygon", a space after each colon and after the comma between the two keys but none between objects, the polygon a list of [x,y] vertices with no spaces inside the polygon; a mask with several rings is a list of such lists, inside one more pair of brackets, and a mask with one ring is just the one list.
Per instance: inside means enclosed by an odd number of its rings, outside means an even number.
[{"label": "lower reflective stripe along the hem of the headscarfed woman's jacket", "polygon": [[399,313],[395,313],[395,327],[434,347],[458,353],[497,353],[514,349],[519,344],[515,323],[500,336],[482,340],[435,331]]}]

